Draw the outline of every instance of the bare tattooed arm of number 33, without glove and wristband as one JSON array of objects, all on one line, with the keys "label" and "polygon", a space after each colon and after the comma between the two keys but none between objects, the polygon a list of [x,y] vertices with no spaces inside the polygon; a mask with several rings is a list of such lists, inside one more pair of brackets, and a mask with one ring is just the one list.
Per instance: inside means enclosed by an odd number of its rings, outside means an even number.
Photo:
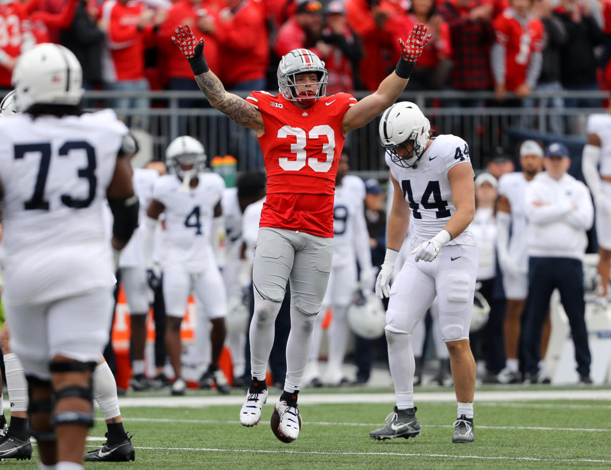
[{"label": "bare tattooed arm of number 33, without glove and wristband", "polygon": [[213,107],[236,124],[253,129],[257,132],[257,137],[263,135],[261,113],[246,99],[227,93],[219,78],[211,70],[196,75],[195,81]]}]

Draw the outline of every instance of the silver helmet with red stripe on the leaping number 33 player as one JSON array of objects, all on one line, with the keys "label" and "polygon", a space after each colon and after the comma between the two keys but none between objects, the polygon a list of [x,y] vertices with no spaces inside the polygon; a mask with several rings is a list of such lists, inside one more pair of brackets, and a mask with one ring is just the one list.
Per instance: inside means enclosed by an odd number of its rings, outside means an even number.
[{"label": "silver helmet with red stripe on the leaping number 33 player", "polygon": [[[314,96],[298,95],[295,89],[295,75],[299,73],[313,72],[318,76],[315,83],[316,94]],[[327,94],[327,69],[324,62],[316,54],[308,49],[293,49],[282,56],[278,64],[278,90],[288,101],[299,101],[300,103],[312,103],[321,96]]]}]

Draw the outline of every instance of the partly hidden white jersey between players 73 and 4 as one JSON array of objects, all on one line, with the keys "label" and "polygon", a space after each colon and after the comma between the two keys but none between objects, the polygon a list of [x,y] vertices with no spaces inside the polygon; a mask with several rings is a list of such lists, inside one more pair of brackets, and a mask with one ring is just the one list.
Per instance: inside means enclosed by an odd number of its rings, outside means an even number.
[{"label": "partly hidden white jersey between players 73 and 4", "polygon": [[152,168],[134,168],[134,175],[131,181],[134,185],[139,202],[140,210],[138,212],[139,226],[131,236],[130,242],[121,251],[119,259],[120,267],[145,267],[144,245],[142,237],[144,237],[144,221],[147,217],[148,203],[153,195],[153,187],[155,181],[159,178],[159,173]]}]

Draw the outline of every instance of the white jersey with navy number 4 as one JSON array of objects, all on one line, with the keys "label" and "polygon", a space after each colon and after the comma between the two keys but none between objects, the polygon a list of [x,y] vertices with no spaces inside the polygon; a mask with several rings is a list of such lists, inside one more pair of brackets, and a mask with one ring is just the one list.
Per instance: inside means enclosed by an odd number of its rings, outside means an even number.
[{"label": "white jersey with navy number 4", "polygon": [[199,173],[197,180],[196,187],[185,189],[176,175],[164,175],[153,189],[153,199],[165,208],[163,264],[180,264],[193,273],[216,266],[210,231],[214,207],[225,189],[216,173]]}]

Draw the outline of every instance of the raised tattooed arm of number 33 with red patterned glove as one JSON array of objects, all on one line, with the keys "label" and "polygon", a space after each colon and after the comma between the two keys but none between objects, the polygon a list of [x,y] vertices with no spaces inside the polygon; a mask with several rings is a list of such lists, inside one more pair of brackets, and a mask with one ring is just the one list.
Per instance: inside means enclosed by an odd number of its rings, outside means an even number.
[{"label": "raised tattooed arm of number 33 with red patterned glove", "polygon": [[203,56],[203,38],[198,41],[186,24],[184,26],[179,24],[174,33],[172,42],[189,61],[195,81],[210,104],[236,124],[253,129],[257,132],[257,136],[262,136],[264,129],[261,113],[246,99],[233,93],[227,93],[219,78],[208,67],[206,58]]}]

